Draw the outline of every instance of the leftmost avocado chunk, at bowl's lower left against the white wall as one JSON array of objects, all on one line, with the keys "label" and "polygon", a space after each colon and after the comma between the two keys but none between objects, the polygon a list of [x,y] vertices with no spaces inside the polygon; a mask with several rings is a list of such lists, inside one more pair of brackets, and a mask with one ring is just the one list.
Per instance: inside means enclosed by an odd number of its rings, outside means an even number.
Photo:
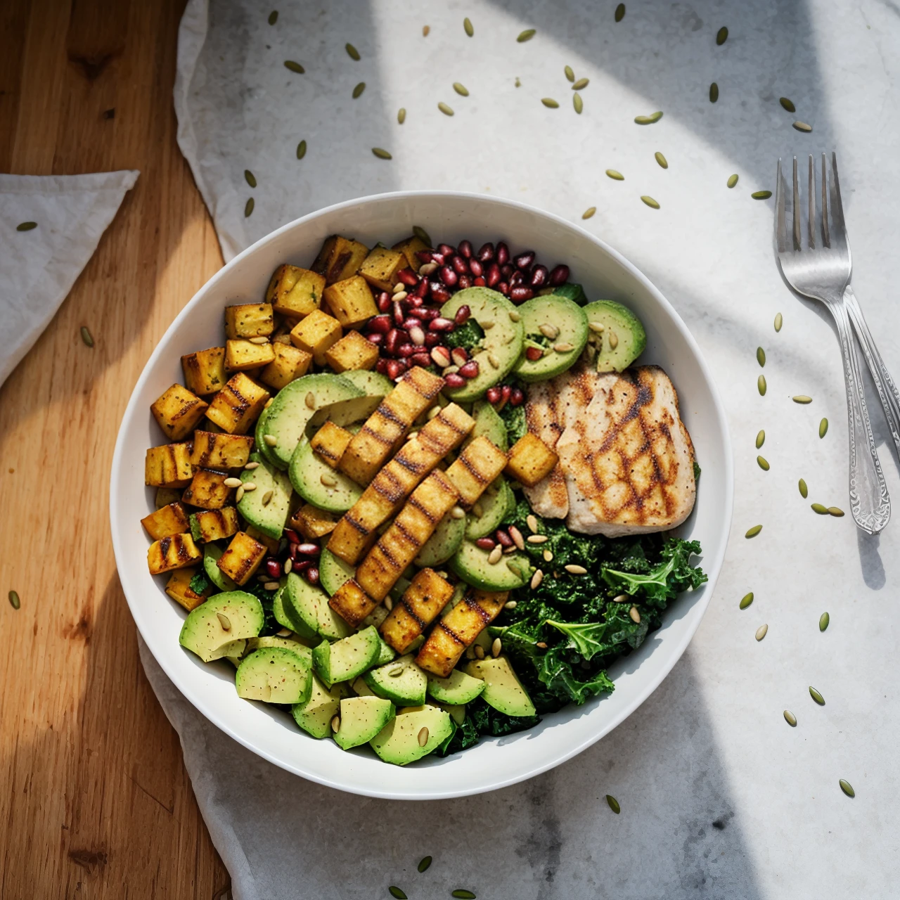
[{"label": "leftmost avocado chunk, at bowl's lower left against the white wall", "polygon": [[234,655],[235,643],[256,637],[264,621],[263,605],[253,594],[229,590],[213,595],[188,614],[178,643],[203,662],[211,662]]}]

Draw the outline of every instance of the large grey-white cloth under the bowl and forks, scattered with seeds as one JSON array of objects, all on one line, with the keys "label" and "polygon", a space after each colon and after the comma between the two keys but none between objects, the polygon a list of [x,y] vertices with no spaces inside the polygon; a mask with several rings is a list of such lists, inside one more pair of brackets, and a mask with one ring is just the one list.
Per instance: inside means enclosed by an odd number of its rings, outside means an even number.
[{"label": "large grey-white cloth under the bowl and forks, scattered with seeds", "polygon": [[[826,314],[782,283],[771,203],[750,194],[774,188],[779,156],[838,150],[853,284],[900,374],[889,202],[900,189],[900,21],[877,0],[629,3],[621,23],[614,0],[381,0],[279,3],[269,25],[274,4],[191,0],[180,33],[179,140],[226,257],[322,205],[395,188],[497,193],[580,224],[596,206],[584,227],[661,287],[713,367],[737,456],[735,521],[704,623],[653,697],[577,759],[483,797],[391,803],[296,779],[203,720],[145,653],[235,896],[386,897],[392,884],[410,898],[456,887],[517,900],[892,896],[900,522],[867,538],[850,516],[809,509],[812,500],[848,505],[840,355]],[[723,25],[728,39],[717,46]],[[518,43],[527,28],[536,36]],[[347,55],[347,41],[361,61]],[[304,75],[284,67],[290,59]],[[581,116],[566,65],[590,78]],[[470,95],[455,94],[454,82]],[[438,101],[455,116],[438,112]],[[662,121],[635,124],[655,110]],[[812,134],[793,130],[794,120]],[[308,149],[298,159],[301,140]],[[610,180],[607,168],[626,180]],[[732,173],[740,181],[729,190]],[[785,324],[776,334],[778,311]],[[758,346],[768,357],[765,397]],[[814,402],[795,405],[798,393]],[[877,405],[871,413],[900,504],[893,447]],[[830,428],[820,440],[822,417]],[[760,452],[768,473],[756,464]],[[761,535],[745,540],[758,523]],[[748,591],[755,599],[741,611]],[[757,643],[763,623],[769,633]],[[782,717],[786,707],[796,728]],[[435,861],[419,875],[426,854]]]}]

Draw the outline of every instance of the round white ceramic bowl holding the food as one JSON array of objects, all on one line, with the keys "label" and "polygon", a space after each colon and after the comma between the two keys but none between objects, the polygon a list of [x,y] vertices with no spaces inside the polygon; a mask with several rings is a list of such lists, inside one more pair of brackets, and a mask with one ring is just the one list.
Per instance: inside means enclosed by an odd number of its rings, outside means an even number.
[{"label": "round white ceramic bowl holding the food", "polygon": [[[275,266],[309,265],[330,234],[352,235],[370,247],[391,244],[413,224],[440,241],[505,240],[513,252],[537,251],[547,265],[564,262],[572,281],[591,299],[625,302],[644,321],[643,362],[656,363],[679,392],[681,415],[703,467],[697,506],[680,535],[698,538],[709,581],[671,604],[659,631],[610,671],[616,690],[583,707],[545,716],[536,728],[477,746],[446,759],[430,756],[400,768],[366,748],[344,752],[337,744],[302,733],[290,716],[238,698],[229,662],[206,665],[178,644],[184,611],[169,599],[163,581],[147,572],[148,538],[139,518],[153,509],[144,487],[144,453],[163,442],[150,403],[181,382],[180,357],[222,340],[226,304],[256,302]],[[725,412],[697,344],[678,314],[635,266],[586,231],[522,203],[466,193],[386,193],[338,203],[263,238],[233,259],[184,307],[150,357],[122,419],[112,461],[112,544],[122,588],[140,634],[184,697],[222,731],[275,765],[306,779],[370,797],[436,799],[502,788],[551,769],[599,741],[644,702],[684,653],[700,624],[725,554],[732,511],[732,453]]]}]

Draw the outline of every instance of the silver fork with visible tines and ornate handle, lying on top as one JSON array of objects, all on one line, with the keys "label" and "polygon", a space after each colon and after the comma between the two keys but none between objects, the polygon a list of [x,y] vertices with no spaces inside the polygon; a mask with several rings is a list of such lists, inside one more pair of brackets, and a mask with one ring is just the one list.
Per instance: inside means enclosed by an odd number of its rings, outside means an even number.
[{"label": "silver fork with visible tines and ornate handle, lying on top", "polygon": [[[805,244],[801,224],[797,157],[794,157],[794,190],[789,197],[779,159],[775,193],[775,252],[788,284],[797,293],[823,302],[834,317],[841,342],[844,385],[847,390],[851,511],[856,524],[863,531],[877,535],[891,518],[891,502],[887,496],[885,476],[878,461],[875,438],[872,437],[869,410],[866,409],[866,397],[860,374],[860,360],[856,355],[850,318],[844,303],[844,295],[850,284],[851,256],[844,229],[841,195],[838,191],[837,159],[834,154],[832,166],[833,177],[829,184],[823,154],[822,211],[817,217],[815,163],[813,157],[809,157]],[[790,233],[788,220],[791,222]],[[863,437],[868,444],[866,450],[858,446]]]}]

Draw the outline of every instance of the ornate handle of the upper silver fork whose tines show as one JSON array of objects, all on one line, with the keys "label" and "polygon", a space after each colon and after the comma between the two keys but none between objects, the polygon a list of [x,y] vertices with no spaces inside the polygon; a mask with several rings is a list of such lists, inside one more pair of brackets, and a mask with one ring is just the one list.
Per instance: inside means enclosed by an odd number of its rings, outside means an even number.
[{"label": "ornate handle of the upper silver fork whose tines show", "polygon": [[[829,302],[844,364],[844,386],[847,389],[848,431],[850,435],[850,504],[853,518],[863,531],[877,535],[891,518],[891,502],[887,497],[887,484],[881,464],[875,437],[869,424],[869,410],[863,393],[860,359],[856,355],[856,343],[851,332],[847,308],[841,300]],[[868,444],[864,451],[860,439],[865,437]]]}]

